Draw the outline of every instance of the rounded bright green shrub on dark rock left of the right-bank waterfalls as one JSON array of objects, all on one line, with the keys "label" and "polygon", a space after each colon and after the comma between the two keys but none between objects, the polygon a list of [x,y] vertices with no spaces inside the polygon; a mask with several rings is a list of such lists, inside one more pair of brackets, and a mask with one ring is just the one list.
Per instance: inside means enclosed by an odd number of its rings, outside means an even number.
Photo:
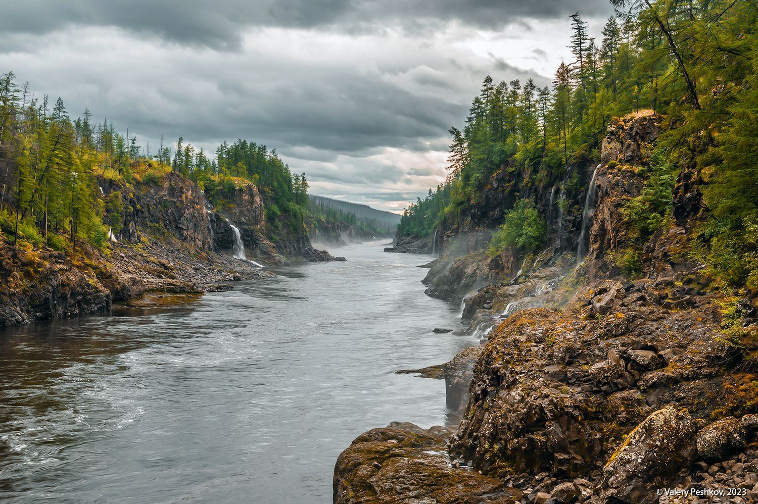
[{"label": "rounded bright green shrub on dark rock left of the right-bank waterfalls", "polygon": [[547,234],[545,222],[540,219],[534,202],[520,199],[506,213],[505,222],[493,234],[487,252],[498,255],[506,247],[512,247],[517,252],[533,252],[542,245]]}]

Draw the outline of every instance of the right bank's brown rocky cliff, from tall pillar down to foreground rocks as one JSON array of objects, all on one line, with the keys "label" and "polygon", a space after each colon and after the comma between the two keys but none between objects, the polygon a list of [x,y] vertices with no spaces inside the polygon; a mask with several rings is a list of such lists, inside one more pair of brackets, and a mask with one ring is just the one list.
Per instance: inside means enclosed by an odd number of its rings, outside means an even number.
[{"label": "right bank's brown rocky cliff, from tall pillar down to foreground rocks", "polygon": [[[581,265],[549,240],[521,274],[465,300],[465,321],[486,339],[446,370],[449,407],[462,409],[462,421],[429,450],[446,456],[402,449],[412,427],[380,430],[381,452],[359,438],[345,452],[351,463],[344,454],[337,462],[334,502],[758,499],[756,299],[714,290],[684,252],[700,213],[688,164],[672,192],[672,218],[656,233],[641,241],[622,216],[644,188],[660,120],[643,112],[609,125],[594,164],[597,199]],[[631,247],[639,264],[629,274],[618,257]],[[458,402],[461,382],[468,390]],[[430,484],[403,469],[415,467]],[[468,494],[437,496],[459,489],[461,474],[490,490],[471,484]],[[710,494],[697,500],[685,489]]]}]

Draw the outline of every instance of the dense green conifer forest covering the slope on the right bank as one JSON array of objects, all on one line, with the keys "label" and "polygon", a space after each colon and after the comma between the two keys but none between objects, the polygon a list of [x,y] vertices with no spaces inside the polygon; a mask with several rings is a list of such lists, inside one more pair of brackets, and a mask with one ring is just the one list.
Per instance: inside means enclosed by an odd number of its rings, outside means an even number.
[{"label": "dense green conifer forest covering the slope on the right bank", "polygon": [[449,177],[406,209],[399,232],[428,236],[460,218],[500,170],[525,195],[557,185],[559,205],[576,204],[568,195],[582,180],[569,167],[599,161],[612,117],[652,109],[666,119],[644,197],[629,203],[639,239],[666,224],[675,174],[691,168],[706,204],[693,253],[719,279],[758,287],[758,4],[611,3],[617,12],[600,39],[580,14],[570,17],[573,59],[557,68],[553,86],[487,76],[462,129],[449,130]]}]

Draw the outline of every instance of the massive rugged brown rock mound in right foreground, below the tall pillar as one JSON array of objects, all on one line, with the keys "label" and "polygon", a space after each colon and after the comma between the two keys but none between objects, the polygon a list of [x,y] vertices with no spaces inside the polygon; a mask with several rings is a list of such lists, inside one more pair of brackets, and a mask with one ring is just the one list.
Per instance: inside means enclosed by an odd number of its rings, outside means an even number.
[{"label": "massive rugged brown rock mound in right foreground, below the tall pillar", "polygon": [[458,390],[473,365],[453,465],[521,490],[524,502],[637,503],[702,479],[698,464],[713,457],[747,457],[758,421],[741,415],[758,403],[758,375],[725,343],[708,297],[666,304],[676,283],[595,283],[561,310],[518,311],[449,363],[446,384],[460,372]]}]

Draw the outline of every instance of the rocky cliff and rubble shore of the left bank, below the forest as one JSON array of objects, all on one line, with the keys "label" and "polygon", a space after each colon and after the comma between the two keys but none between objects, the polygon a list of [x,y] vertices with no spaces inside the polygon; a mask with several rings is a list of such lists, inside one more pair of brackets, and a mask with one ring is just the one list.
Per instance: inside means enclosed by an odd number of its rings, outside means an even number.
[{"label": "rocky cliff and rubble shore of the left bank, below the forest", "polygon": [[117,202],[120,229],[103,249],[35,249],[0,235],[0,327],[110,311],[145,293],[203,293],[265,276],[232,257],[233,223],[245,252],[265,265],[334,261],[313,249],[305,229],[288,229],[274,245],[265,202],[252,183],[206,199],[190,180],[168,172],[143,182],[101,180],[102,197]]}]

